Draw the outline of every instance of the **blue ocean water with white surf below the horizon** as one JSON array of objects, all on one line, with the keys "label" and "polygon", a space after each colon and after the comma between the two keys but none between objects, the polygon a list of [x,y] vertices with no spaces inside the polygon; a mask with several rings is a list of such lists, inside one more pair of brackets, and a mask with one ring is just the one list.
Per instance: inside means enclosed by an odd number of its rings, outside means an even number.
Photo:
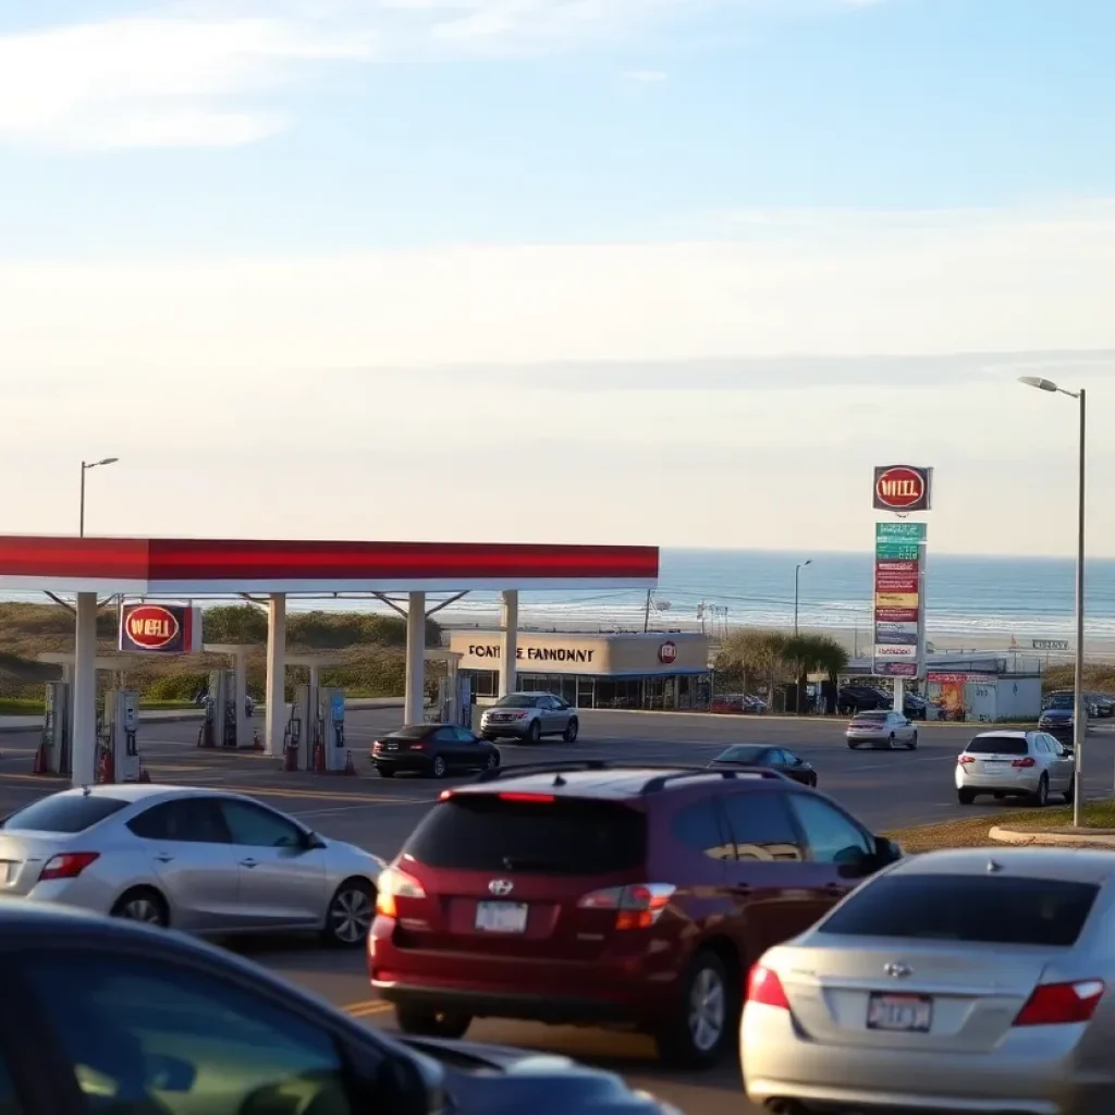
[{"label": "blue ocean water with white surf below the horizon", "polygon": [[[871,628],[871,552],[815,553],[801,573],[798,622],[806,628],[857,628],[866,646]],[[699,629],[700,604],[709,630],[789,627],[794,620],[794,566],[799,553],[747,550],[663,550],[659,588],[652,594],[656,627]],[[1086,566],[1086,638],[1115,640],[1115,560]],[[1072,639],[1074,562],[1059,558],[972,558],[928,554],[927,621],[930,634]],[[9,599],[43,601],[11,593]],[[524,626],[558,629],[641,630],[647,597],[638,591],[524,592]],[[384,611],[376,601],[291,601],[291,609]],[[496,593],[472,593],[439,619],[488,626],[498,617]]]}]

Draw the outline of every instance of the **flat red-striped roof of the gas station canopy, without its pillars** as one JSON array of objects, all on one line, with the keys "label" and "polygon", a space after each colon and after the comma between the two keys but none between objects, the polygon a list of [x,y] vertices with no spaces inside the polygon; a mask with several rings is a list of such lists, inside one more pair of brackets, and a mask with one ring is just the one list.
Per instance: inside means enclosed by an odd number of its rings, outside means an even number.
[{"label": "flat red-striped roof of the gas station canopy, without its pillars", "polygon": [[657,546],[0,535],[0,589],[207,597],[653,588]]}]

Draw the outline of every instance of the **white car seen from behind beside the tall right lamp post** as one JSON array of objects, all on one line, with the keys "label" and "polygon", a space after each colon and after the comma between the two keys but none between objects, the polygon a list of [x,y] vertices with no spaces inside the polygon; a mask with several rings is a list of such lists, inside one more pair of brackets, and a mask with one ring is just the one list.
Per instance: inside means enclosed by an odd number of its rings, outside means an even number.
[{"label": "white car seen from behind beside the tall right lamp post", "polygon": [[957,756],[957,797],[1018,795],[1045,805],[1050,794],[1073,801],[1076,755],[1047,731],[981,731]]}]

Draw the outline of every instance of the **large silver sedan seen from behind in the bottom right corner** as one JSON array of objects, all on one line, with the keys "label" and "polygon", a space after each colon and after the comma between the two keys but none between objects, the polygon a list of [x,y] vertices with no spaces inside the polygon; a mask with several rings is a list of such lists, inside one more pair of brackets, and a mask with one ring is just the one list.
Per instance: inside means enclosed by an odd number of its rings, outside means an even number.
[{"label": "large silver sedan seen from behind in the bottom right corner", "polygon": [[1115,1112],[1115,856],[899,861],[752,970],[747,1095],[774,1112]]}]

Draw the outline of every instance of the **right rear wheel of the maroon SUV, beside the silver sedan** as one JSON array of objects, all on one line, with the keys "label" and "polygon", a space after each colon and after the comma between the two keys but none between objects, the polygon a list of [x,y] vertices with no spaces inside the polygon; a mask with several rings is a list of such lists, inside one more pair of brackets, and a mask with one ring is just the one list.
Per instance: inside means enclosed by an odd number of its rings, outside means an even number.
[{"label": "right rear wheel of the maroon SUV, beside the silver sedan", "polygon": [[656,1035],[658,1057],[671,1068],[707,1068],[735,1036],[735,989],[720,958],[699,952],[681,987],[676,1017]]}]

